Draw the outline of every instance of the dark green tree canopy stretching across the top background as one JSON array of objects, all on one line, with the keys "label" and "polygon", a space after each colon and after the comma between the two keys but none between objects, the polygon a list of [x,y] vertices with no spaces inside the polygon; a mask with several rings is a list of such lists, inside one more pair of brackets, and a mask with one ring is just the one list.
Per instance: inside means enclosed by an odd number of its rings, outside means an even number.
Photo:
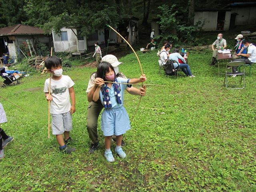
[{"label": "dark green tree canopy stretching across the top background", "polygon": [[[79,28],[82,35],[88,35],[106,24],[116,26],[122,22],[122,18],[133,15],[140,19],[140,27],[145,30],[149,28],[149,21],[160,19],[162,38],[178,40],[178,32],[189,40],[195,31],[195,7],[223,8],[230,2],[231,0],[0,0],[0,27],[22,23],[38,26],[47,33],[51,30],[58,33],[63,27]],[[170,34],[170,31],[173,33]]]}]

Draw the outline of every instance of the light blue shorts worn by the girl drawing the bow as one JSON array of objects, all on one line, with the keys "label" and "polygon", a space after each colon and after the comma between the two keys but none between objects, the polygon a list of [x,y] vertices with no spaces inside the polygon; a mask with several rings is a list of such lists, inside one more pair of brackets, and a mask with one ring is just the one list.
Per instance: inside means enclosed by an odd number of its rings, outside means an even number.
[{"label": "light blue shorts worn by the girl drawing the bow", "polygon": [[114,109],[105,108],[102,112],[101,130],[104,136],[122,135],[130,128],[130,119],[123,106]]}]

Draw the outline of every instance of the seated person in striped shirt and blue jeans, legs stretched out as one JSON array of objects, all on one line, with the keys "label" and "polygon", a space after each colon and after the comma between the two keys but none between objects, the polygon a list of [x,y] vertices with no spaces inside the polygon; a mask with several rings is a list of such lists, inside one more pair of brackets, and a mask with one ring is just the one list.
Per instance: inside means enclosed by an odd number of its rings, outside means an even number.
[{"label": "seated person in striped shirt and blue jeans, legs stretched out", "polygon": [[175,60],[178,62],[178,60],[182,60],[182,62],[184,62],[184,64],[179,63],[179,65],[174,62],[174,68],[177,68],[179,66],[179,68],[184,72],[184,74],[186,74],[186,76],[190,76],[190,77],[195,77],[194,75],[192,75],[192,72],[190,70],[190,67],[188,64],[186,64],[186,60],[179,54],[179,49],[178,48],[174,48],[172,54],[170,54],[169,56],[169,60]]}]

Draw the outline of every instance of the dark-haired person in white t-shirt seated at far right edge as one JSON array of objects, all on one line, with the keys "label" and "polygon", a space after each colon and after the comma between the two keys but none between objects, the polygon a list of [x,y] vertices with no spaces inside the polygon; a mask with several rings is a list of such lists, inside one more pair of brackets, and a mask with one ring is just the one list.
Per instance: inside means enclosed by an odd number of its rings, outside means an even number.
[{"label": "dark-haired person in white t-shirt seated at far right edge", "polygon": [[[244,58],[235,59],[234,61],[244,61],[245,64],[253,64],[256,63],[256,46],[254,46],[250,39],[243,40],[242,44],[244,44],[244,48],[247,48],[247,54],[236,54],[236,56],[242,56]],[[236,71],[236,67],[233,67],[233,72]],[[235,76],[235,75],[234,75]]]}]

